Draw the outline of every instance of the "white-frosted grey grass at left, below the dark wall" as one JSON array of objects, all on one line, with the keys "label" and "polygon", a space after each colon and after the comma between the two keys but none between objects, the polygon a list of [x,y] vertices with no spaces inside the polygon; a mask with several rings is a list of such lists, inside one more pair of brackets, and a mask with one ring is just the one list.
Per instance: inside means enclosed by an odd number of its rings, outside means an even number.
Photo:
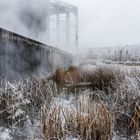
[{"label": "white-frosted grey grass at left, below the dark wall", "polygon": [[22,127],[28,119],[33,122],[44,102],[51,102],[54,88],[46,79],[31,79],[10,83],[1,80],[1,123]]}]

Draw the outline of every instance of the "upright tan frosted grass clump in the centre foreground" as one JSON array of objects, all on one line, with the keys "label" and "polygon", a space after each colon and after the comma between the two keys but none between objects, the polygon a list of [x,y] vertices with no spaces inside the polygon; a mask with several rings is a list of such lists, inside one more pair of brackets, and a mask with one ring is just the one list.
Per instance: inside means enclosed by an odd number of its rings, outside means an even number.
[{"label": "upright tan frosted grass clump in the centre foreground", "polygon": [[[77,101],[77,103],[79,103]],[[112,116],[103,104],[93,103],[83,112],[82,102],[76,110],[55,106],[43,107],[41,126],[47,139],[108,140],[112,137]]]}]

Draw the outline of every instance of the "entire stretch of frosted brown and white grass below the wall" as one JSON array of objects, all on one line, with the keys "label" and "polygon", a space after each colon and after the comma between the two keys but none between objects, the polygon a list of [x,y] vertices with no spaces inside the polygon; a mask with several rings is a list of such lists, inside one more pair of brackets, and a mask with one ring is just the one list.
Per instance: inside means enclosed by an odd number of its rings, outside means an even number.
[{"label": "entire stretch of frosted brown and white grass below the wall", "polygon": [[[6,124],[8,127],[23,127],[28,120],[34,123],[38,116],[46,139],[66,140],[67,137],[75,137],[78,140],[108,140],[114,134],[123,135],[127,139],[138,139],[139,70],[127,71],[115,66],[100,66],[89,72],[70,66],[68,69],[56,70],[52,77],[52,81],[32,77],[12,84],[2,80],[1,126]],[[58,104],[51,106],[54,97],[60,96],[58,89],[61,88],[63,94],[69,95],[71,91],[66,92],[66,85],[78,85],[81,82],[90,83],[90,88],[84,86],[77,90],[75,87],[75,108],[69,109]],[[90,93],[86,92],[87,89]],[[86,98],[79,101],[81,94]]]}]

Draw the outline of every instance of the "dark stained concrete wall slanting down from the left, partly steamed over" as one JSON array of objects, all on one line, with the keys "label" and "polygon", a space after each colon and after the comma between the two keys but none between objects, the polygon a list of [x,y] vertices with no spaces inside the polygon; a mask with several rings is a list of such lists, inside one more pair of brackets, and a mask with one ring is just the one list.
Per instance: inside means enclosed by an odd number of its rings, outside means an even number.
[{"label": "dark stained concrete wall slanting down from the left, partly steamed over", "polygon": [[0,77],[19,80],[47,75],[72,63],[72,55],[13,32],[0,29]]}]

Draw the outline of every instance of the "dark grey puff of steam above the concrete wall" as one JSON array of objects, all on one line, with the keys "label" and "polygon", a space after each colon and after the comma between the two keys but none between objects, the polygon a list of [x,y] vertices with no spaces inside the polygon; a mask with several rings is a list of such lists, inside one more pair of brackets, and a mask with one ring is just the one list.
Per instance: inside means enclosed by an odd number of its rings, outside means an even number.
[{"label": "dark grey puff of steam above the concrete wall", "polygon": [[19,20],[35,37],[39,37],[40,34],[46,32],[48,1],[39,5],[33,0],[29,2],[23,0],[23,3],[19,10]]}]

